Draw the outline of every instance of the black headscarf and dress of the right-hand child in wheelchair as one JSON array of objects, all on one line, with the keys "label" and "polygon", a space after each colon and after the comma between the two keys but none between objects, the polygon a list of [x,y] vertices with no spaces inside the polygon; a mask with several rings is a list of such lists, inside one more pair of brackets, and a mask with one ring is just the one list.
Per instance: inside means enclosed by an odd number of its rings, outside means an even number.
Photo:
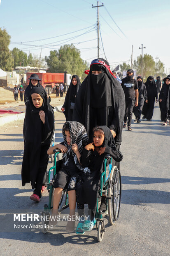
[{"label": "black headscarf and dress of the right-hand child in wheelchair", "polygon": [[[105,156],[110,154],[115,161],[121,161],[123,156],[121,152],[116,149],[114,138],[110,129],[107,126],[100,126],[104,131],[105,139],[101,147],[106,147],[105,152],[101,155],[95,150],[83,149],[80,162],[83,166],[88,166],[91,170],[91,174],[88,176],[82,175],[79,183],[77,184],[77,206],[78,210],[83,209],[82,206],[88,203],[88,208],[92,211],[92,215],[95,216],[98,188],[100,184],[100,175],[103,171],[103,162]],[[93,142],[93,134],[88,143]]]}]

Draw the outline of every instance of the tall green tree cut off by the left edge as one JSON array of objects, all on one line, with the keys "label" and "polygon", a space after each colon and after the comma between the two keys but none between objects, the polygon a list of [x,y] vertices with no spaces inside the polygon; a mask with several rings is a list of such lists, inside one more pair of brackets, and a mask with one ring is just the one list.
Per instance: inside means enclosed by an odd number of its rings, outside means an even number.
[{"label": "tall green tree cut off by the left edge", "polygon": [[6,29],[0,28],[0,68],[5,71],[11,71],[13,66],[12,54],[9,50],[10,38]]}]

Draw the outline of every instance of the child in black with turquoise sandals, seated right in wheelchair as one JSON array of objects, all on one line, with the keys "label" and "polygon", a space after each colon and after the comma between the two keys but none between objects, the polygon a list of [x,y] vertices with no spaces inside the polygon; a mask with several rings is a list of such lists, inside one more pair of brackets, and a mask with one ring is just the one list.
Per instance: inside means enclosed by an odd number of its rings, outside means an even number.
[{"label": "child in black with turquoise sandals, seated right in wheelchair", "polygon": [[107,126],[93,128],[93,134],[84,147],[80,163],[88,166],[91,173],[82,174],[77,183],[76,198],[79,216],[84,216],[84,204],[88,204],[88,219],[80,218],[76,233],[84,234],[91,231],[95,225],[95,213],[97,208],[98,188],[105,156],[109,154],[115,161],[121,161],[123,156],[114,142],[114,138]]}]

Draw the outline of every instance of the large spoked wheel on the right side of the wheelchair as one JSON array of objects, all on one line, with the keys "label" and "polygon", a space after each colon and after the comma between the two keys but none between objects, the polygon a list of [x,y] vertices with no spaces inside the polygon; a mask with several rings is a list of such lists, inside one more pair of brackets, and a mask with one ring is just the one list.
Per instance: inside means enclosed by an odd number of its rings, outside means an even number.
[{"label": "large spoked wheel on the right side of the wheelchair", "polygon": [[110,197],[108,199],[109,222],[114,225],[119,218],[121,205],[121,174],[116,166],[110,173],[108,197]]}]

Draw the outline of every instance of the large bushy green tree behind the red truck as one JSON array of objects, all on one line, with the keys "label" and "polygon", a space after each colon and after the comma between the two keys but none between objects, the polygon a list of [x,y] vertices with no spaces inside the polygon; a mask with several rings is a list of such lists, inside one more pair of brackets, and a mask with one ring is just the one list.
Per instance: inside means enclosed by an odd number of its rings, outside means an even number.
[{"label": "large bushy green tree behind the red truck", "polygon": [[80,50],[73,44],[63,45],[60,49],[50,51],[49,57],[45,61],[49,67],[49,72],[63,73],[67,71],[70,74],[76,74],[84,78],[84,70],[87,69],[87,63],[80,57]]}]

